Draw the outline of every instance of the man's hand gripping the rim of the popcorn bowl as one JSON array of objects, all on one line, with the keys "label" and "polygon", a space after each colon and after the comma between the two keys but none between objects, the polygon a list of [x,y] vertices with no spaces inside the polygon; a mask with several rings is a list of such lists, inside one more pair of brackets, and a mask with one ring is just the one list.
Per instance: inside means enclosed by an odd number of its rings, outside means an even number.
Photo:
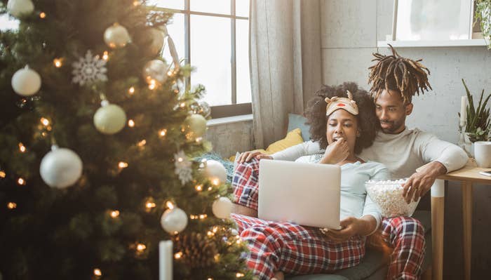
[{"label": "man's hand gripping the rim of the popcorn bowl", "polygon": [[403,196],[406,203],[410,203],[411,199],[417,201],[419,197],[424,196],[431,189],[433,182],[439,175],[447,173],[447,168],[438,161],[433,161],[426,167],[411,175],[405,184],[403,184]]}]

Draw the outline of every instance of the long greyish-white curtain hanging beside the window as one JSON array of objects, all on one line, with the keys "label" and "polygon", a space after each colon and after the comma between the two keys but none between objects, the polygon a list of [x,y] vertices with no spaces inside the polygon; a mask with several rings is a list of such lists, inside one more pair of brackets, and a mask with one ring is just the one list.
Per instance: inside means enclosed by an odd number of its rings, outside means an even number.
[{"label": "long greyish-white curtain hanging beside the window", "polygon": [[321,86],[318,0],[250,0],[250,81],[255,147],[285,137]]}]

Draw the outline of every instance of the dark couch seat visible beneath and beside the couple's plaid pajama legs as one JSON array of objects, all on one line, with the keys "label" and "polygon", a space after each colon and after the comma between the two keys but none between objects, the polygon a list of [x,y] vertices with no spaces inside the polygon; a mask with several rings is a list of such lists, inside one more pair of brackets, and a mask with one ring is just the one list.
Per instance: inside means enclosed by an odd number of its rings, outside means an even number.
[{"label": "dark couch seat visible beneath and beside the couple's plaid pajama legs", "polygon": [[[423,270],[431,265],[431,212],[430,211],[415,211],[412,217],[417,218],[424,227],[426,238],[426,255],[423,262]],[[342,269],[335,274],[312,274],[302,276],[287,277],[288,280],[361,280],[361,279],[384,279],[386,275],[386,261],[382,252],[369,249],[360,265],[347,269]],[[379,275],[382,275],[379,278]],[[342,278],[339,278],[342,277]]]}]

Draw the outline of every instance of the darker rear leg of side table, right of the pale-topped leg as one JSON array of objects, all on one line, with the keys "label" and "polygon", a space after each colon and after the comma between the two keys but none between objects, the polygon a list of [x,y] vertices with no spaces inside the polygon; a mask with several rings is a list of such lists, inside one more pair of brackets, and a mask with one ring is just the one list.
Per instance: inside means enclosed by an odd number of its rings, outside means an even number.
[{"label": "darker rear leg of side table, right of the pale-topped leg", "polygon": [[462,222],[464,224],[464,279],[471,279],[472,183],[462,182]]}]

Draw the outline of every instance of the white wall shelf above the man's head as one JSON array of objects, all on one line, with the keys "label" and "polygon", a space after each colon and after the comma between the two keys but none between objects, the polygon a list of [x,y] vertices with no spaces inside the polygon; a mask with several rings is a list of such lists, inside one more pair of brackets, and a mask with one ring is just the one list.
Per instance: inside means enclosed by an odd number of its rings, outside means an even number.
[{"label": "white wall shelf above the man's head", "polygon": [[444,41],[377,41],[377,48],[388,48],[387,44],[391,44],[394,48],[487,46],[484,39],[462,39]]}]

